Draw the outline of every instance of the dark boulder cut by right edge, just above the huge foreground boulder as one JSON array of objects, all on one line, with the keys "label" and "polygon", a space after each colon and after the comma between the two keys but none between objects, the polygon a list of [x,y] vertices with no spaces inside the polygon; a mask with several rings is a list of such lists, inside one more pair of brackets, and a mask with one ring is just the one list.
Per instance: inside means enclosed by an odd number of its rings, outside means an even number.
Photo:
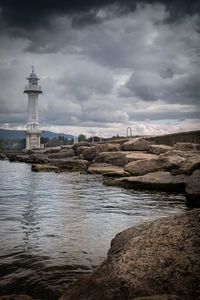
[{"label": "dark boulder cut by right edge, just above the huge foreground boulder", "polygon": [[186,181],[186,201],[189,206],[200,207],[200,170],[196,170]]}]

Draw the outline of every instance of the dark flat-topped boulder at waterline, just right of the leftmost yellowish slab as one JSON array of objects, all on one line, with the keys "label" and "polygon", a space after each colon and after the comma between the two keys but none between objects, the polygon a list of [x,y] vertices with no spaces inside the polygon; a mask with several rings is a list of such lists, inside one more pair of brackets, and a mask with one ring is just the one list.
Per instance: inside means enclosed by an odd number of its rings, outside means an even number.
[{"label": "dark flat-topped boulder at waterline, just right of the leftmost yellowish slab", "polygon": [[85,171],[88,167],[88,161],[78,158],[51,159],[49,165],[65,171]]}]

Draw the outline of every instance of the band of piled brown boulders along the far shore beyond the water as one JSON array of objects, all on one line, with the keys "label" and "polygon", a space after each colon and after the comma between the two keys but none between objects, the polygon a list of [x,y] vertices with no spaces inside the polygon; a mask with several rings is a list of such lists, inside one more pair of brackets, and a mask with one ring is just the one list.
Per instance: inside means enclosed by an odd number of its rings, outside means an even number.
[{"label": "band of piled brown boulders along the far shore beyond the water", "polygon": [[[35,172],[80,171],[106,176],[107,185],[183,192],[189,206],[200,207],[200,144],[177,142],[172,145],[177,137],[171,136],[171,139],[169,135],[104,143],[80,142],[22,153],[1,153],[0,158],[31,163]],[[180,136],[184,141],[184,134]],[[200,132],[193,133],[195,141],[198,136]],[[187,133],[186,141],[191,140],[189,137]],[[156,144],[158,139],[166,144]]]}]

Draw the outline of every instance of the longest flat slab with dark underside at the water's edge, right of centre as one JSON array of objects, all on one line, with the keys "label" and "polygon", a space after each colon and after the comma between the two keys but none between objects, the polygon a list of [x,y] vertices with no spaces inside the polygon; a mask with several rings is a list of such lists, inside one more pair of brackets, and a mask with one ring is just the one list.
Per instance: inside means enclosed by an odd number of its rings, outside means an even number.
[{"label": "longest flat slab with dark underside at the water's edge, right of centre", "polygon": [[187,176],[173,176],[169,172],[158,171],[144,176],[130,176],[113,179],[105,182],[110,186],[122,186],[125,188],[138,188],[147,190],[161,190],[167,192],[184,192]]}]

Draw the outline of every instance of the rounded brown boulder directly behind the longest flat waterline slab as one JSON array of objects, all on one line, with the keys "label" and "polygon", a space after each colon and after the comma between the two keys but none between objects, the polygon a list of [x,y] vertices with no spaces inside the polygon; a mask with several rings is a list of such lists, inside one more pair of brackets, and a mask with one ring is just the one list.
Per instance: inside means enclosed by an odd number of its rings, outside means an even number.
[{"label": "rounded brown boulder directly behind the longest flat waterline slab", "polygon": [[156,172],[163,168],[162,161],[158,159],[145,159],[129,162],[124,166],[124,170],[135,175],[145,175],[147,173]]}]

